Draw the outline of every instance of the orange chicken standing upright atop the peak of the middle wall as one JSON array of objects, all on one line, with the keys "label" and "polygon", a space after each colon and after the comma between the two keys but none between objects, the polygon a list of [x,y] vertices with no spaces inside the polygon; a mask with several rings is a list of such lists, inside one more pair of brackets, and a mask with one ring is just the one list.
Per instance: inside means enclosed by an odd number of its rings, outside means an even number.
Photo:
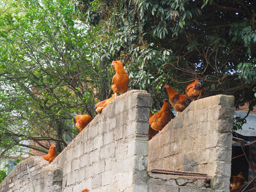
[{"label": "orange chicken standing upright atop the peak of the middle wall", "polygon": [[121,94],[125,93],[128,91],[129,77],[124,70],[122,62],[112,61],[111,66],[114,66],[116,71],[116,74],[112,78],[113,85],[111,86],[111,89],[114,91],[115,95],[117,95],[117,92]]}]

